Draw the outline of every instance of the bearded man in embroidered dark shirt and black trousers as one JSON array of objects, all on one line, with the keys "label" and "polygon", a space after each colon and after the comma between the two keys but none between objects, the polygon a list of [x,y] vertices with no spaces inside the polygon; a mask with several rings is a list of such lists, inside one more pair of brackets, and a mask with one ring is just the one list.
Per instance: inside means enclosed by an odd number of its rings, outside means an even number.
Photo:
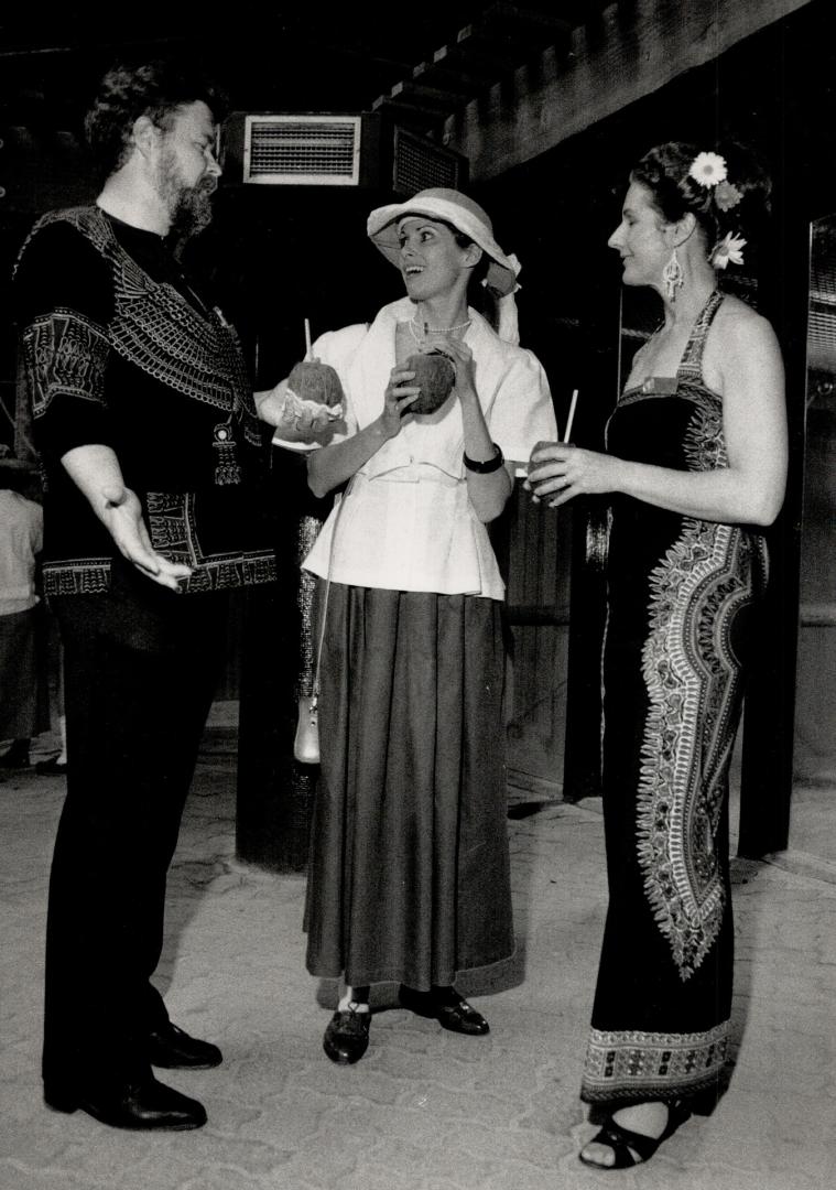
[{"label": "bearded man in embroidered dark shirt and black trousers", "polygon": [[216,1046],[151,982],[165,881],[226,652],[228,593],[270,583],[259,418],[238,338],[175,245],[210,219],[216,95],[162,62],[118,67],[86,131],[105,182],[24,244],[18,324],[45,476],[44,587],[61,625],[68,793],[46,931],[46,1103],[121,1128],[197,1128],[152,1066]]}]

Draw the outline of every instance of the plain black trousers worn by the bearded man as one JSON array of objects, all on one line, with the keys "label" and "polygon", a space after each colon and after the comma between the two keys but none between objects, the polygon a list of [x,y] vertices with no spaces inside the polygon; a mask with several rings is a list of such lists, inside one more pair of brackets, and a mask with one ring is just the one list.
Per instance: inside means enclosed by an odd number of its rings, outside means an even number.
[{"label": "plain black trousers worn by the bearded man", "polygon": [[139,575],[51,601],[64,650],[68,783],[50,878],[44,1081],[147,1075],[168,1020],[151,975],[165,882],[226,653],[225,594]]}]

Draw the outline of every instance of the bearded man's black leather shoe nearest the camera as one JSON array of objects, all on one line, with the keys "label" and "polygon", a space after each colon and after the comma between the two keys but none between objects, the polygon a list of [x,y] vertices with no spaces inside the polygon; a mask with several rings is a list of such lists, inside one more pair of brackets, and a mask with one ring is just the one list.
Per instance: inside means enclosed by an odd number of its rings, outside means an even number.
[{"label": "bearded man's black leather shoe nearest the camera", "polygon": [[44,1101],[56,1111],[75,1111],[81,1108],[94,1120],[112,1128],[168,1128],[186,1132],[206,1123],[202,1103],[152,1077],[99,1091],[73,1091],[46,1083]]}]

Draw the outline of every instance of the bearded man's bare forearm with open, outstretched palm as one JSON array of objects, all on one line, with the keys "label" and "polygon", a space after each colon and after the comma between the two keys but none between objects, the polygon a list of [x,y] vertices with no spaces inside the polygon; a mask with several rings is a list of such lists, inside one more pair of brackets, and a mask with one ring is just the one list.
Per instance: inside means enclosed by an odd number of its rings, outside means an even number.
[{"label": "bearded man's bare forearm with open, outstretched palm", "polygon": [[114,451],[101,444],[75,446],[61,462],[122,557],[153,582],[180,590],[178,580],[187,578],[191,570],[152,549],[142,506],[136,493],[125,487]]}]

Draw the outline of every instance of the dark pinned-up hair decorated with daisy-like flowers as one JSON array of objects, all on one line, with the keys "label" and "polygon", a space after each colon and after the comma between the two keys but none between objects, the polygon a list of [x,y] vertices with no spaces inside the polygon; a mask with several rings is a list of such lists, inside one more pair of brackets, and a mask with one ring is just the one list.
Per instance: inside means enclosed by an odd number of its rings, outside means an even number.
[{"label": "dark pinned-up hair decorated with daisy-like flowers", "polygon": [[[717,158],[725,167],[724,178],[716,173]],[[769,177],[754,155],[736,144],[706,150],[668,140],[645,154],[630,181],[647,187],[666,223],[694,215],[709,255],[725,234],[750,233],[769,211]]]}]

